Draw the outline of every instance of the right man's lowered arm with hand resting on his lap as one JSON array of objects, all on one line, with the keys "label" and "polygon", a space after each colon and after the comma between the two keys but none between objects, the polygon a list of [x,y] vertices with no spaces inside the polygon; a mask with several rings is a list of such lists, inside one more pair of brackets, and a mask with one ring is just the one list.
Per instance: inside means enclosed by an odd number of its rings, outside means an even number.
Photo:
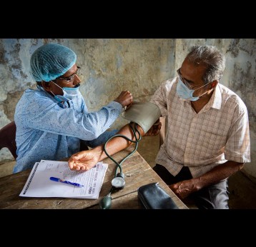
[{"label": "right man's lowered arm with hand resting on his lap", "polygon": [[243,166],[244,163],[227,161],[222,163],[220,166],[215,166],[211,171],[208,171],[198,178],[174,183],[170,185],[169,188],[171,188],[179,198],[186,198],[192,192],[199,191],[201,188],[205,188],[230,177],[237,171],[240,171]]}]

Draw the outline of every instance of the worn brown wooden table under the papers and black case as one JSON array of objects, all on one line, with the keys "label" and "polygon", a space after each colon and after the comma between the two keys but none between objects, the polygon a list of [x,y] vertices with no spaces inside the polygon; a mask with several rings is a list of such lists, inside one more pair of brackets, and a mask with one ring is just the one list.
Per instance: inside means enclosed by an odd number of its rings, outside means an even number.
[{"label": "worn brown wooden table under the papers and black case", "polygon": [[[121,161],[124,156],[132,151],[134,146],[116,153],[113,158]],[[111,181],[114,177],[116,165],[109,158],[104,160],[108,163],[107,172],[97,200],[77,199],[77,198],[28,198],[21,197],[24,187],[31,170],[21,171],[9,176],[0,178],[0,208],[49,208],[49,209],[99,209],[99,201],[103,196],[107,196],[111,188]],[[122,171],[125,174],[125,187],[112,193],[112,209],[139,209],[142,206],[137,198],[137,188],[147,183],[159,182],[159,186],[172,197],[180,209],[187,209],[187,206],[172,192],[171,189],[154,172],[149,164],[136,151],[132,156],[122,163]]]}]

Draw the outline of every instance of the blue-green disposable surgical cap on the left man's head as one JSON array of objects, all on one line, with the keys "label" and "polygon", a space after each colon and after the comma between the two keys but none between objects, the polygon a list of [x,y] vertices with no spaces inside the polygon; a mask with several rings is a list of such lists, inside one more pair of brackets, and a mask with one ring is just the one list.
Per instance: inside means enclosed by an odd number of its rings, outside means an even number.
[{"label": "blue-green disposable surgical cap on the left man's head", "polygon": [[31,74],[36,81],[51,81],[64,75],[77,60],[77,54],[60,44],[40,46],[31,56]]}]

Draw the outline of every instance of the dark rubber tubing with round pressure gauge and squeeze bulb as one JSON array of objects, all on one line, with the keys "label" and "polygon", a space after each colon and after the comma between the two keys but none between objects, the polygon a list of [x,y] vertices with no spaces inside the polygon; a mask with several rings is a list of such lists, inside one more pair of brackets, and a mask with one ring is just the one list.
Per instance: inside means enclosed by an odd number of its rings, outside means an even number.
[{"label": "dark rubber tubing with round pressure gauge and squeeze bulb", "polygon": [[[114,178],[112,179],[111,181],[111,184],[112,184],[112,188],[110,189],[109,193],[107,194],[107,196],[104,196],[102,198],[101,201],[99,201],[99,208],[100,209],[109,209],[111,207],[111,204],[112,204],[112,197],[111,197],[111,194],[113,191],[119,191],[121,190],[122,188],[124,188],[124,185],[125,185],[125,181],[124,181],[124,173],[122,172],[122,163],[127,159],[129,158],[129,156],[132,156],[132,154],[137,150],[137,147],[138,147],[138,143],[139,141],[142,139],[142,136],[141,134],[139,133],[139,130],[137,129],[137,124],[135,124],[135,126],[133,127],[132,126],[132,123],[130,122],[129,123],[129,126],[132,128],[132,132],[134,133],[134,136],[135,136],[135,141],[132,141],[130,138],[128,138],[127,136],[124,136],[124,135],[121,135],[121,134],[117,134],[117,135],[114,135],[110,138],[108,138],[108,140],[106,141],[106,143],[104,144],[104,152],[107,154],[107,156],[112,160],[114,161],[114,163],[117,165],[116,167],[116,171],[114,173]],[[135,129],[134,129],[135,128]],[[139,134],[139,138],[137,138],[136,136],[136,133]],[[106,150],[106,147],[107,147],[107,143],[112,139],[112,138],[115,138],[115,137],[122,137],[124,139],[126,139],[127,141],[131,141],[132,143],[135,143],[135,147],[134,147],[134,150],[129,153],[127,156],[125,156],[122,161],[120,161],[119,163],[117,161],[114,160],[114,158],[112,158],[111,156],[109,156],[109,153],[107,153],[107,150]],[[117,172],[119,169],[119,172]]]}]

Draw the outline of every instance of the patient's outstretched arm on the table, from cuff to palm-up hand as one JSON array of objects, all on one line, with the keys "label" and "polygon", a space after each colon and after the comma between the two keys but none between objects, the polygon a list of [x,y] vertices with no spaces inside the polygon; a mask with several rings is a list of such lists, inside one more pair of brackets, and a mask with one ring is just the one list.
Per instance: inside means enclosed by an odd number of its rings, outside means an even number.
[{"label": "patient's outstretched arm on the table, from cuff to palm-up hand", "polygon": [[[132,123],[132,125],[134,126],[134,123]],[[139,125],[137,125],[137,129],[141,136],[157,136],[157,134],[159,134],[160,128],[161,123],[157,121],[157,124],[154,124],[145,134],[143,129]],[[136,133],[137,138],[139,138],[139,133]],[[135,141],[134,133],[129,124],[122,127],[117,132],[117,134],[127,136],[127,138]],[[122,137],[112,138],[107,143],[107,153],[109,153],[109,156],[112,156],[114,153],[117,153],[124,148],[132,145],[132,141],[127,141],[125,138]],[[107,158],[107,155],[104,152],[104,145],[97,146],[96,148],[93,148],[91,150],[74,153],[69,158],[69,168],[76,171],[88,171],[90,168],[94,167],[97,162],[102,161],[104,158]]]}]

